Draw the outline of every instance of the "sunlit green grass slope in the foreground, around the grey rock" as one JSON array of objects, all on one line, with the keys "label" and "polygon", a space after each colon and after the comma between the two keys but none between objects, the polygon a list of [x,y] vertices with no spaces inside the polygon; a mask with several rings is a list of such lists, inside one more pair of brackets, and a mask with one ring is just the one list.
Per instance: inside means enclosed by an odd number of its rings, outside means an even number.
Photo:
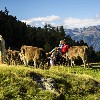
[{"label": "sunlit green grass slope in the foreground, around the grey rock", "polygon": [[[55,79],[55,91],[43,90],[34,75]],[[0,100],[99,100],[100,69],[54,66],[48,70],[34,67],[0,65]]]}]

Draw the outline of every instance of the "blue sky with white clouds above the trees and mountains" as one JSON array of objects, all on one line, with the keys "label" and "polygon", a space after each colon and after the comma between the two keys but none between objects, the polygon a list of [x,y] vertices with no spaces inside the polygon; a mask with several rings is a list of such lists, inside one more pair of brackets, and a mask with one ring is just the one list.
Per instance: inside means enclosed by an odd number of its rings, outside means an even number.
[{"label": "blue sky with white clouds above the trees and mountains", "polygon": [[64,28],[100,25],[100,0],[0,0],[0,10],[36,27]]}]

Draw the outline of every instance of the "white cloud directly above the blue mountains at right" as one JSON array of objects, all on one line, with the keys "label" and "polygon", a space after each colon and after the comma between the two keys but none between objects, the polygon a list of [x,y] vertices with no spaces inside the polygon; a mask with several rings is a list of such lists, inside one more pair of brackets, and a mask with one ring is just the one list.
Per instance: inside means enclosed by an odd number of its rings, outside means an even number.
[{"label": "white cloud directly above the blue mountains at right", "polygon": [[80,18],[66,18],[63,20],[64,27],[67,28],[83,28],[88,26],[100,25],[100,16],[96,15],[95,18],[91,19],[80,19]]}]

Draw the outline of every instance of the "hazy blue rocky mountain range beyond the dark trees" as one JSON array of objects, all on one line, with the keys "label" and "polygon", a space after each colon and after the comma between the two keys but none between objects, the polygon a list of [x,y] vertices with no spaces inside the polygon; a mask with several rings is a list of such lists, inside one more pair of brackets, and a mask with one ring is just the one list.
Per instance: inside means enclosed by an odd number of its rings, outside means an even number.
[{"label": "hazy blue rocky mountain range beyond the dark trees", "polygon": [[75,41],[83,40],[95,51],[100,51],[100,25],[87,28],[65,29],[66,35],[70,35]]}]

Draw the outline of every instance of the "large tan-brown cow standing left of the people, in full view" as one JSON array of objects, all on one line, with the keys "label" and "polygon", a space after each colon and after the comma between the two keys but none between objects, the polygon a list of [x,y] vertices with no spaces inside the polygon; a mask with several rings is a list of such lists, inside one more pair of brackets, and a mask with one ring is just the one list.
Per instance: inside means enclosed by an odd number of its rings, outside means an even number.
[{"label": "large tan-brown cow standing left of the people, in full view", "polygon": [[25,66],[29,65],[29,62],[33,62],[36,68],[39,68],[39,65],[46,61],[46,53],[42,48],[33,47],[33,46],[26,46],[23,45],[21,47],[21,60],[25,64]]}]

